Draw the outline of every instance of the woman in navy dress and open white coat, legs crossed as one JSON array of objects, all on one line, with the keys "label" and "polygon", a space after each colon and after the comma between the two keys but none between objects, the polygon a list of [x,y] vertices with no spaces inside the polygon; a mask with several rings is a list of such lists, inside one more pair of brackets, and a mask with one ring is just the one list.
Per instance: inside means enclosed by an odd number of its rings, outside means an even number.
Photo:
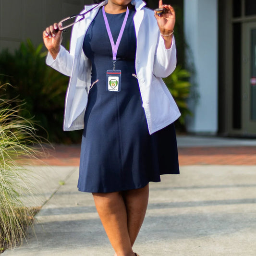
[{"label": "woman in navy dress and open white coat, legs crossed", "polygon": [[70,52],[58,24],[46,28],[47,64],[71,77],[64,130],[84,129],[78,189],[92,193],[116,256],[134,256],[148,183],[179,173],[180,112],[161,79],[176,65],[175,12],[162,0],[160,16],[142,0],[95,3],[74,24]]}]

